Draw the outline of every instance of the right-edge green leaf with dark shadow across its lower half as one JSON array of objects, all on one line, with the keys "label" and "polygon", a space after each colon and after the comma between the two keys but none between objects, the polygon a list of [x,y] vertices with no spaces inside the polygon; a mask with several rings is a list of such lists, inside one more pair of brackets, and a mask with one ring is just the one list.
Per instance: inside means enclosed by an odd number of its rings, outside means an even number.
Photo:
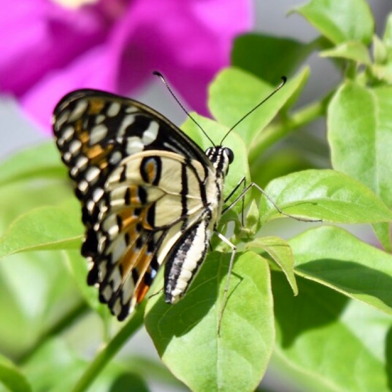
[{"label": "right-edge green leaf with dark shadow across its lower half", "polygon": [[392,315],[392,255],[335,226],[308,230],[289,243],[297,274]]}]

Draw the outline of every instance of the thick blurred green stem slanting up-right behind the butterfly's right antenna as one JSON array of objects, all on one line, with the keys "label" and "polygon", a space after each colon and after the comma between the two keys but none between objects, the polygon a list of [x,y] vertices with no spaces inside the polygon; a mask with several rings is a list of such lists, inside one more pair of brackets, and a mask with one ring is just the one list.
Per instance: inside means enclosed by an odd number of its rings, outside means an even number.
[{"label": "thick blurred green stem slanting up-right behind the butterfly's right antenna", "polygon": [[276,141],[282,139],[293,130],[315,120],[317,117],[325,115],[326,100],[329,100],[329,98],[330,94],[328,94],[322,101],[312,103],[305,108],[298,110],[290,117],[285,118],[283,121],[265,128],[260,133],[260,136],[251,144],[249,150],[250,166],[252,166],[252,163]]}]

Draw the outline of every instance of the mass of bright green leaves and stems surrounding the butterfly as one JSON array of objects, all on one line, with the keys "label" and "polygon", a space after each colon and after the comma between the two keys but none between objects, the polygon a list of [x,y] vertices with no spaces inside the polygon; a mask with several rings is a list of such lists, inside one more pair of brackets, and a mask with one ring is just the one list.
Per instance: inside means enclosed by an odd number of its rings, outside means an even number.
[{"label": "mass of bright green leaves and stems surrounding the butterfly", "polygon": [[[214,251],[178,304],[164,303],[160,273],[157,295],[119,325],[85,283],[80,206],[54,143],[0,164],[0,391],[143,391],[146,378],[178,386],[174,375],[194,391],[246,392],[269,363],[304,391],[392,389],[392,16],[377,37],[363,0],[311,0],[291,12],[320,37],[238,37],[232,66],[210,86],[215,120],[193,114],[218,144],[288,76],[224,141],[235,155],[225,195],[243,177],[265,191],[247,194],[244,225],[241,202],[220,221],[237,246],[230,277],[231,251],[213,238]],[[301,107],[314,51],[341,79]],[[327,131],[318,142],[316,119]],[[210,146],[191,120],[183,130]],[[293,137],[301,142],[289,144]],[[312,150],[325,160],[330,151],[328,168]],[[307,230],[288,239],[261,237],[261,226],[287,222],[281,212],[314,223],[298,224]],[[351,234],[347,225],[356,224],[373,228],[380,244]],[[163,365],[128,354],[112,360],[143,322]],[[96,349],[91,361],[83,349]]]}]

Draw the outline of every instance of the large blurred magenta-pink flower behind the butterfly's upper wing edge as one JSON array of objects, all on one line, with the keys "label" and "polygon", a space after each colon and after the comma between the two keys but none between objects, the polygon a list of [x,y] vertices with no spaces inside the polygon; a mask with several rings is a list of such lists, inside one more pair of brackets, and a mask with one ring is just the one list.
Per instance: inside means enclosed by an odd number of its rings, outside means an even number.
[{"label": "large blurred magenta-pink flower behind the butterfly's upper wing edge", "polygon": [[251,27],[251,0],[89,3],[0,0],[0,91],[15,95],[46,131],[66,92],[129,94],[155,69],[192,109],[206,113],[207,84],[229,63],[235,35]]}]

